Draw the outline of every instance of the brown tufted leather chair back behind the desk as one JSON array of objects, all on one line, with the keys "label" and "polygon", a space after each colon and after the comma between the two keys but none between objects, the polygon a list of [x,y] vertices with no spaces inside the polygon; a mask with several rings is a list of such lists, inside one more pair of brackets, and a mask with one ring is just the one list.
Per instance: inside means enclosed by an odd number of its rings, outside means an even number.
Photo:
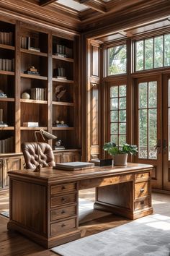
[{"label": "brown tufted leather chair back behind the desk", "polygon": [[[55,166],[53,150],[48,143],[39,142],[40,165],[42,167]],[[36,142],[22,142],[22,153],[26,168],[36,168],[38,166],[38,154]]]}]

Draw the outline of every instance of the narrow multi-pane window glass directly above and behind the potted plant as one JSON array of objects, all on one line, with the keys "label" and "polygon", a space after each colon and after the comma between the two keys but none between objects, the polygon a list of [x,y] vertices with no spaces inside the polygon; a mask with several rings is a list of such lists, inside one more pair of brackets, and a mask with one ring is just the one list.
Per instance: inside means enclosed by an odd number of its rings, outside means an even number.
[{"label": "narrow multi-pane window glass directly above and behind the potted plant", "polygon": [[126,85],[110,88],[110,140],[119,147],[126,142]]}]

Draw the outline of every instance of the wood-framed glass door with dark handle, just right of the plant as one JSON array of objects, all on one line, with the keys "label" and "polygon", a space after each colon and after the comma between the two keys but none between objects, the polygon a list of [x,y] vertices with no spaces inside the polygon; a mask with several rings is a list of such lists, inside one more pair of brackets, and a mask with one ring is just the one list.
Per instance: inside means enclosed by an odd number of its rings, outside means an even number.
[{"label": "wood-framed glass door with dark handle, just right of the plant", "polygon": [[134,143],[138,145],[136,163],[154,166],[152,187],[163,189],[163,119],[161,77],[135,80]]}]

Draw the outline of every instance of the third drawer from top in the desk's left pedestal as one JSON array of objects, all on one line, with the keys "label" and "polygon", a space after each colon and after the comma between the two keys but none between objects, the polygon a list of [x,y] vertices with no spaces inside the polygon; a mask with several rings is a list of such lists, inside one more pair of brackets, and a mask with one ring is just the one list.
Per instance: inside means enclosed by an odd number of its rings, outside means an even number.
[{"label": "third drawer from top in the desk's left pedestal", "polygon": [[56,221],[60,218],[66,218],[70,216],[76,215],[76,205],[57,209],[57,210],[51,210],[50,211],[50,221]]}]

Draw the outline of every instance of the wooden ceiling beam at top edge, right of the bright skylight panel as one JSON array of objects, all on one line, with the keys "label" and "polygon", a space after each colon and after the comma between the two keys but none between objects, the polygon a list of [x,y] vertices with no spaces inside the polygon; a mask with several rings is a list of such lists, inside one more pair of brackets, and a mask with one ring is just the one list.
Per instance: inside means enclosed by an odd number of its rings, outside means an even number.
[{"label": "wooden ceiling beam at top edge, right of the bright skylight panel", "polygon": [[80,4],[84,4],[87,7],[90,7],[91,9],[96,10],[97,12],[106,13],[106,4],[104,4],[101,0],[74,0],[79,1]]}]

